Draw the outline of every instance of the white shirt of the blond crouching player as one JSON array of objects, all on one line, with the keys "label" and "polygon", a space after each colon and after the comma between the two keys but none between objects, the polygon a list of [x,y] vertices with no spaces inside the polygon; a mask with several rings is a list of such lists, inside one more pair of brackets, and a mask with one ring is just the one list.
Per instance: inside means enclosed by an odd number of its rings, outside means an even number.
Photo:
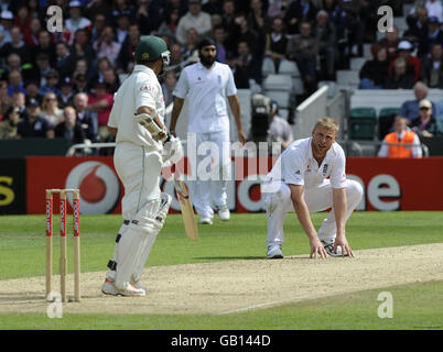
[{"label": "white shirt of the blond crouching player", "polygon": [[280,155],[268,180],[283,182],[287,185],[310,188],[323,184],[329,178],[332,188],[346,186],[346,156],[342,146],[334,142],[326,156],[318,165],[312,154],[312,138],[298,140]]}]

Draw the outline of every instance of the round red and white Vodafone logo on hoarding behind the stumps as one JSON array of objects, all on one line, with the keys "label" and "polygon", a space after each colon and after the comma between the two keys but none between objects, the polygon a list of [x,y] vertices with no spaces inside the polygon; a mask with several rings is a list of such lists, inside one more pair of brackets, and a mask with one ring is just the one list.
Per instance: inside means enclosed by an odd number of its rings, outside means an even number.
[{"label": "round red and white Vodafone logo on hoarding behind the stumps", "polygon": [[[120,184],[115,172],[100,162],[78,164],[68,174],[65,188],[80,190],[79,208],[85,215],[111,212],[120,196]],[[73,196],[68,195],[67,199],[73,206]]]}]

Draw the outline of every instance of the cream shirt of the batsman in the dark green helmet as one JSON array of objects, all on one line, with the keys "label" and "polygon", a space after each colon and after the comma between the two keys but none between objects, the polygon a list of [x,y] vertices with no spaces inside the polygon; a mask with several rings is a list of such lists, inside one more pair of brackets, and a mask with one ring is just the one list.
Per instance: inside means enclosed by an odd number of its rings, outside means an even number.
[{"label": "cream shirt of the batsman in the dark green helmet", "polygon": [[118,129],[117,143],[131,142],[161,151],[162,143],[155,142],[151,133],[134,120],[140,107],[153,109],[164,121],[163,91],[155,73],[147,66],[136,65],[133,73],[114,95],[108,127]]}]

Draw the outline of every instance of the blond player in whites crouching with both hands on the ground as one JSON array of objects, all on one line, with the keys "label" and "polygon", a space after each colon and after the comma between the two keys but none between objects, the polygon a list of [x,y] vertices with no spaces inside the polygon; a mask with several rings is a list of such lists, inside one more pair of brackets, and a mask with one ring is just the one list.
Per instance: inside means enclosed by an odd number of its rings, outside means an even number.
[{"label": "blond player in whites crouching with both hands on the ground", "polygon": [[[346,179],[346,157],[336,143],[337,123],[331,118],[317,121],[312,136],[293,142],[268,174],[261,191],[267,205],[269,258],[282,258],[283,223],[292,209],[317,254],[354,256],[346,240],[346,220],[363,196],[360,184]],[[318,232],[310,212],[332,208]]]}]

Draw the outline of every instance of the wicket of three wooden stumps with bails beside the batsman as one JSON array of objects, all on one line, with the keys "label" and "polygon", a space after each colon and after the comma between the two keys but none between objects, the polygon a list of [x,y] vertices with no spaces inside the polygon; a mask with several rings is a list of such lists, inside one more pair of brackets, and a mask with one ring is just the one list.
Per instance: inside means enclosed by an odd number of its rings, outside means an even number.
[{"label": "wicket of three wooden stumps with bails beside the batsman", "polygon": [[52,266],[53,266],[53,200],[54,194],[60,194],[60,280],[62,301],[66,300],[67,275],[67,239],[66,239],[66,195],[73,195],[74,218],[74,299],[80,301],[80,208],[78,189],[46,189],[46,299],[51,294]]}]

